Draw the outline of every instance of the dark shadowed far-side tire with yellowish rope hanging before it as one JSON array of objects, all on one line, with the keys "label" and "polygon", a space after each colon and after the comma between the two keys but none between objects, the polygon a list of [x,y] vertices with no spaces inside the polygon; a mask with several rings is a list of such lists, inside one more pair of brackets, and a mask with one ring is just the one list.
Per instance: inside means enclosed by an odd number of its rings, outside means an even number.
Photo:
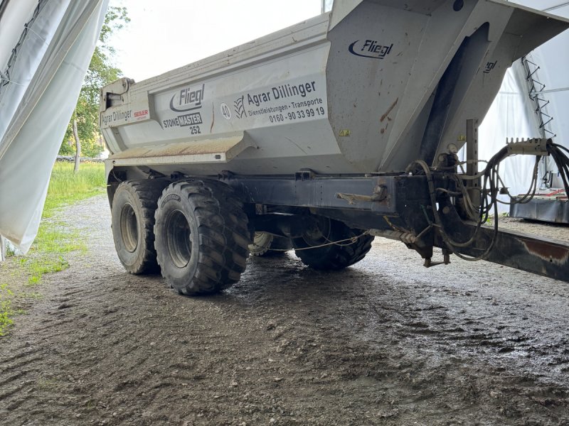
[{"label": "dark shadowed far-side tire with yellowish rope hanging before it", "polygon": [[[342,222],[321,217],[318,226],[304,236],[292,239],[294,253],[304,265],[320,271],[337,271],[361,261],[371,249],[373,236],[362,235],[355,242],[321,246],[333,241],[351,239],[363,234],[360,229],[351,229]],[[307,249],[316,247],[314,249]],[[304,250],[302,250],[304,249]]]}]

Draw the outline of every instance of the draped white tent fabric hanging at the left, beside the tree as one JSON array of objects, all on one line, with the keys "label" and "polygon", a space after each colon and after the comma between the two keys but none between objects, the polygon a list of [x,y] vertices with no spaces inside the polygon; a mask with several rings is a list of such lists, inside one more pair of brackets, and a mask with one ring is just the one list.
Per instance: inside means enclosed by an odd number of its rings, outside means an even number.
[{"label": "draped white tent fabric hanging at the left, beside the tree", "polygon": [[[107,4],[18,0],[0,16],[0,28],[12,28],[0,33],[0,235],[24,253],[36,237],[51,169]],[[4,36],[16,44],[4,43]]]}]

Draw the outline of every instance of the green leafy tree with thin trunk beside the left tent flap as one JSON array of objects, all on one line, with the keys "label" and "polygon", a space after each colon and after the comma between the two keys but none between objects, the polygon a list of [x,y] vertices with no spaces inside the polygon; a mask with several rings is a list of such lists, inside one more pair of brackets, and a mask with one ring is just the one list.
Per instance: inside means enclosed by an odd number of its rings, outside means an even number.
[{"label": "green leafy tree with thin trunk beside the left tent flap", "polygon": [[114,82],[122,71],[112,65],[115,49],[109,44],[111,35],[129,23],[127,8],[111,6],[105,15],[99,41],[95,46],[89,69],[85,75],[75,111],[69,121],[60,154],[75,154],[75,173],[79,170],[80,156],[95,157],[102,152],[99,132],[99,90]]}]

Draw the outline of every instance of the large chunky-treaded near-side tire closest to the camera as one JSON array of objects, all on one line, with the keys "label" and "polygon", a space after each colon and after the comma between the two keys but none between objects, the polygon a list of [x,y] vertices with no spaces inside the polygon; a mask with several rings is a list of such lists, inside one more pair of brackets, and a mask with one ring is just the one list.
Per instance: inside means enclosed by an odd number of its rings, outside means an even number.
[{"label": "large chunky-treaded near-side tire closest to the camera", "polygon": [[217,293],[240,280],[250,232],[243,203],[213,180],[166,187],[156,209],[156,254],[166,284],[184,295]]}]

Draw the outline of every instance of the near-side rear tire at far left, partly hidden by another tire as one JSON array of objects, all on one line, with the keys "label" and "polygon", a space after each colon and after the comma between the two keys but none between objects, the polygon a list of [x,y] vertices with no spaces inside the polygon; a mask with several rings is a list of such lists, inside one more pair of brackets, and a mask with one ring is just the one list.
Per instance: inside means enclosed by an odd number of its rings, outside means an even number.
[{"label": "near-side rear tire at far left, partly hidden by another tire", "polygon": [[122,182],[112,199],[111,226],[115,249],[124,268],[133,274],[158,273],[154,250],[154,212],[166,182]]}]

